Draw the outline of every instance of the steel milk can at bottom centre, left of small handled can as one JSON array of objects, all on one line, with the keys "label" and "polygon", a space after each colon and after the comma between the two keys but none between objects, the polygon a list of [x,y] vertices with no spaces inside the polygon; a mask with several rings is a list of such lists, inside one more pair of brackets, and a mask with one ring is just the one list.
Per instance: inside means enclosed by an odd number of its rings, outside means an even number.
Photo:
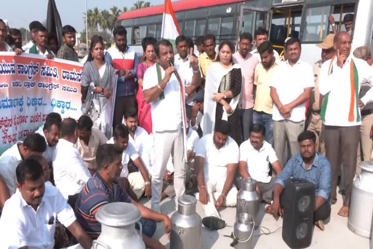
[{"label": "steel milk can at bottom centre, left of small handled can", "polygon": [[170,249],[201,249],[202,219],[196,213],[197,199],[183,195],[171,216]]}]

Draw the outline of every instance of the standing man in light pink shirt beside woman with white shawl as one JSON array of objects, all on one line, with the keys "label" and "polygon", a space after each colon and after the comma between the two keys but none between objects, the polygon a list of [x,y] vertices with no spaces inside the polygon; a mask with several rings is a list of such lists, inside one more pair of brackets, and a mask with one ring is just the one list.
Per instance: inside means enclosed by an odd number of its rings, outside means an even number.
[{"label": "standing man in light pink shirt beside woman with white shawl", "polygon": [[253,36],[250,33],[242,33],[239,36],[239,49],[233,54],[233,63],[238,63],[242,71],[242,89],[238,108],[241,112],[242,138],[246,141],[250,138],[250,127],[253,125],[254,107],[254,71],[259,63],[258,58],[249,53]]}]

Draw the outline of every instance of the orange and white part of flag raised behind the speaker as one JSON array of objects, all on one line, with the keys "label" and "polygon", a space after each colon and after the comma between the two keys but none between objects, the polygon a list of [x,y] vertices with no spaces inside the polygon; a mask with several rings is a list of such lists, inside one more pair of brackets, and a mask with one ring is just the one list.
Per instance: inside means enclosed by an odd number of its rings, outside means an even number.
[{"label": "orange and white part of flag raised behind the speaker", "polygon": [[171,0],[165,0],[161,37],[162,39],[170,40],[170,42],[175,45],[175,39],[177,36],[180,36],[180,34],[179,24],[177,23]]}]

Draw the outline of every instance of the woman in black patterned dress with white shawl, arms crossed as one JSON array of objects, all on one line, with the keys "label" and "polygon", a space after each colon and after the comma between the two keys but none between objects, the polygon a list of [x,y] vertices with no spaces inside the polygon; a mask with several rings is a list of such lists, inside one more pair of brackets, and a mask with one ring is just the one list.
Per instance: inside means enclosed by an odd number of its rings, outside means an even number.
[{"label": "woman in black patterned dress with white shawl, arms crossed", "polygon": [[227,120],[231,126],[229,136],[239,146],[242,138],[237,104],[242,73],[240,66],[232,62],[233,53],[234,46],[231,42],[221,42],[217,62],[208,68],[204,90],[203,135],[214,131],[217,120]]}]

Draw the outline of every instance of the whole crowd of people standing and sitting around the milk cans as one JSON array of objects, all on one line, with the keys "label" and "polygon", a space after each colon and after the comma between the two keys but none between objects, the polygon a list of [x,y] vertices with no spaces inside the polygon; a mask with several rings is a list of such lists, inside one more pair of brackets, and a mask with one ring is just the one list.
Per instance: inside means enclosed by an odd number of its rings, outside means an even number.
[{"label": "whole crowd of people standing and sitting around the milk cans", "polygon": [[[351,51],[350,19],[347,32],[334,30],[317,44],[322,53],[313,68],[300,58],[297,37],[286,40],[280,57],[263,28],[254,37],[241,34],[237,52],[230,41],[216,50],[213,35],[198,38],[194,52],[181,35],[176,51],[168,40],[146,37],[139,56],[123,26],[113,30],[108,49],[93,36],[83,67],[83,115],[76,121],[48,114],[37,132],[0,157],[1,243],[75,242],[88,249],[101,233],[95,213],[127,202],[142,214],[146,246],[164,248],[152,238],[157,221],[170,232],[163,198],[175,196],[177,207],[179,196],[194,194],[203,225],[219,229],[219,209],[236,205],[240,181],[249,177],[275,218],[283,214],[289,178],[314,183],[314,222],[323,230],[343,171],[338,214],[347,217],[357,158],[371,160],[373,148],[373,60],[369,48]],[[57,39],[33,21],[33,40],[21,47],[20,32],[0,20],[0,51],[78,61],[75,29],[62,30],[57,49]],[[138,202],[143,196],[151,209]]]}]

